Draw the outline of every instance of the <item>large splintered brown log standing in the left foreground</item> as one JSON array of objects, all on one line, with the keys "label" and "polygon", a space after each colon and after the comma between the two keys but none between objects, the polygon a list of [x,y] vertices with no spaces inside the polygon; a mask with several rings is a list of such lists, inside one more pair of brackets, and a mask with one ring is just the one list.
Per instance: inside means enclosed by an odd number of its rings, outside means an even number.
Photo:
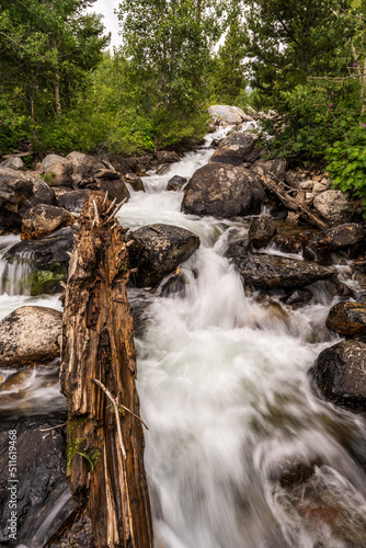
[{"label": "large splintered brown log standing in the left foreground", "polygon": [[151,548],[128,254],[112,210],[104,193],[88,197],[70,259],[60,376],[68,400],[67,471],[96,548]]}]

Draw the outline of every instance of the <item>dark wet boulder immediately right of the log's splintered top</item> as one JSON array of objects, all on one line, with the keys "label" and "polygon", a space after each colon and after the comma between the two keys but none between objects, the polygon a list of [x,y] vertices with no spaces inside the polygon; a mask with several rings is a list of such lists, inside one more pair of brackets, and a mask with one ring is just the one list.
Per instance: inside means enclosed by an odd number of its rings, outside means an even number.
[{"label": "dark wet boulder immediately right of the log's splintered top", "polygon": [[129,260],[137,267],[138,287],[153,286],[188,259],[199,247],[199,238],[190,230],[171,225],[149,225],[130,235]]}]

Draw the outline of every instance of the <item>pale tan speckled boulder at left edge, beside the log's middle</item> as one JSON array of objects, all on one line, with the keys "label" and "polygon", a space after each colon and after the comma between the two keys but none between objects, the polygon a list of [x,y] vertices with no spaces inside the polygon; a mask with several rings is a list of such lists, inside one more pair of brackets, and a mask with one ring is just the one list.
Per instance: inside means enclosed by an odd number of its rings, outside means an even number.
[{"label": "pale tan speckled boulder at left edge, beside the log's middle", "polygon": [[20,307],[0,321],[0,367],[19,367],[59,356],[62,313]]}]

